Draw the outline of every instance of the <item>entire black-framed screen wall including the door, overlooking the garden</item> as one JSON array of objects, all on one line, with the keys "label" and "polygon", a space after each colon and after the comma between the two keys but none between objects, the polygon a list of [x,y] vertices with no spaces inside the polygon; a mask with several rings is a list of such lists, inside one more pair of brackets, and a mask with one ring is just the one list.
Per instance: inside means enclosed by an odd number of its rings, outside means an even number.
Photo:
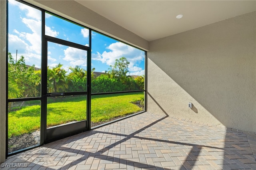
[{"label": "entire black-framed screen wall including the door, overlooking the garden", "polygon": [[144,111],[145,52],[8,1],[8,153]]}]

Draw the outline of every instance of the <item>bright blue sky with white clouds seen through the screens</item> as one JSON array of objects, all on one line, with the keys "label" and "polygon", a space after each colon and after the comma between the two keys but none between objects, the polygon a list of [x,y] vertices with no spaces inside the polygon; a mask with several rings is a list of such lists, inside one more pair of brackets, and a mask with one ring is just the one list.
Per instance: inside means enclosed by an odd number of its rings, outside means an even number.
[{"label": "bright blue sky with white clouds seen through the screens", "polygon": [[[26,64],[41,67],[41,11],[14,0],[9,0],[8,51],[12,56],[23,55]],[[46,35],[88,46],[86,28],[46,14]],[[49,67],[58,63],[68,67],[79,65],[86,69],[86,51],[48,42]],[[92,32],[92,68],[98,72],[108,70],[115,60],[126,57],[130,62],[130,75],[144,75],[144,51]]]}]

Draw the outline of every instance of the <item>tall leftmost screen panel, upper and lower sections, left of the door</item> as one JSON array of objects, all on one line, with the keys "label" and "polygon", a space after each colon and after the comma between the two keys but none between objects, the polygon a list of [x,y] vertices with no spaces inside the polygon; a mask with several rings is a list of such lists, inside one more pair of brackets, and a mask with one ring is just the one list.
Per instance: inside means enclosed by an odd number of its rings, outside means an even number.
[{"label": "tall leftmost screen panel, upper and lower sections, left of the door", "polygon": [[40,144],[41,16],[36,8],[8,1],[9,153]]}]

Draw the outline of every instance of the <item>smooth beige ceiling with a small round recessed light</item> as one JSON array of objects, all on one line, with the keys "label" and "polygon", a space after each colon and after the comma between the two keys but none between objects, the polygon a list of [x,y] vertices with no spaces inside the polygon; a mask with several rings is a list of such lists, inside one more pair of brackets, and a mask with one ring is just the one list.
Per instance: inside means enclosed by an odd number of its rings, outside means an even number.
[{"label": "smooth beige ceiling with a small round recessed light", "polygon": [[256,11],[256,0],[76,1],[147,41]]}]

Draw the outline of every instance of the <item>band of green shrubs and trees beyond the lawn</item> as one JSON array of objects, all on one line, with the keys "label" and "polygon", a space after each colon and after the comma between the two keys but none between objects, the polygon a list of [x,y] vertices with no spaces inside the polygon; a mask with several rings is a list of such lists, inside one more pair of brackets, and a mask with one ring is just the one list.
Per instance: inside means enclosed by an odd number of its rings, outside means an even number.
[{"label": "band of green shrubs and trees beyond the lawn", "polygon": [[[144,89],[144,76],[132,79],[128,74],[129,61],[125,57],[116,59],[106,74],[94,77],[92,68],[92,93],[115,91],[133,91]],[[47,89],[48,93],[65,91],[86,91],[87,71],[76,67],[69,67],[71,73],[62,68],[62,64],[48,67]],[[8,98],[37,97],[41,94],[41,70],[36,71],[35,66],[25,64],[23,56],[14,61],[8,53]]]}]

